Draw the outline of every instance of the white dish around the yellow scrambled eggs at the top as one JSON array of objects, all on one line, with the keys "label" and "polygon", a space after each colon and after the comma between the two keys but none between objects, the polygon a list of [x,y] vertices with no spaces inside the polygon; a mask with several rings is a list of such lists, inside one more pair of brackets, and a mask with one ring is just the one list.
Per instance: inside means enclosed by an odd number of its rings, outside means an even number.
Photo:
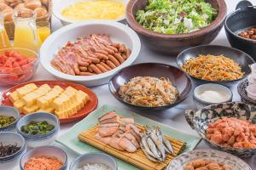
[{"label": "white dish around the yellow scrambled eggs at the top", "polygon": [[[67,26],[69,24],[73,23],[78,23],[78,22],[83,22],[85,20],[69,20],[66,17],[62,16],[61,12],[64,8],[67,8],[70,5],[73,5],[74,3],[78,2],[87,2],[91,0],[58,0],[56,3],[53,4],[53,14],[55,15],[56,18],[61,20],[61,24],[63,26]],[[116,0],[117,2],[124,3],[125,8],[127,6],[127,3],[129,3],[129,0]],[[125,20],[125,13],[119,17],[117,20],[112,20],[112,21],[122,21]]]}]

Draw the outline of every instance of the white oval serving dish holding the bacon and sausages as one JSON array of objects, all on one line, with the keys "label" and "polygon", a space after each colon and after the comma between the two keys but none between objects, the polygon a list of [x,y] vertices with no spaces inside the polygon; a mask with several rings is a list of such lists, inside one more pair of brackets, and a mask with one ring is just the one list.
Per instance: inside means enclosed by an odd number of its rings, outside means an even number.
[{"label": "white oval serving dish holding the bacon and sausages", "polygon": [[[109,34],[113,42],[125,43],[126,47],[131,48],[130,57],[126,59],[122,65],[119,65],[112,71],[90,77],[67,75],[61,71],[55,70],[55,68],[50,65],[50,60],[53,59],[58,50],[65,46],[68,41],[75,41],[78,37],[84,37],[93,33],[106,33]],[[116,71],[131,65],[135,59],[137,59],[140,48],[141,42],[137,33],[132,31],[128,26],[113,21],[85,21],[64,26],[51,34],[40,49],[40,62],[44,66],[44,69],[55,77],[73,82],[83,82],[86,86],[96,86],[108,83],[109,79]]]}]

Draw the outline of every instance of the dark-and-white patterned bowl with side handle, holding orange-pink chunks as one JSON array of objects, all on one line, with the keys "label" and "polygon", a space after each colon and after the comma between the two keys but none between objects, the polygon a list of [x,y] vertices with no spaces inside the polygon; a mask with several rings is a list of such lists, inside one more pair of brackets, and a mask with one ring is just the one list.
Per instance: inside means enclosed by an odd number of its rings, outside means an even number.
[{"label": "dark-and-white patterned bowl with side handle, holding orange-pink chunks", "polygon": [[220,144],[212,143],[207,139],[207,127],[210,122],[215,122],[217,119],[228,116],[237,117],[239,119],[247,119],[253,124],[256,123],[256,106],[247,105],[242,102],[229,102],[217,105],[208,105],[199,111],[185,111],[185,117],[189,122],[190,127],[205,139],[207,144],[214,149],[223,150],[233,155],[240,157],[248,157],[256,154],[256,148],[234,148],[227,147]]}]

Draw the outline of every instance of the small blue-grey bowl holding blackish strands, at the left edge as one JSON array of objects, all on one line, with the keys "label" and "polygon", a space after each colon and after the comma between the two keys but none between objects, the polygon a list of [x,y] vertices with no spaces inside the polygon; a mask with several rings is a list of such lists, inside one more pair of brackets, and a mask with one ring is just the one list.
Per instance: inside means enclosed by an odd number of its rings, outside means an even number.
[{"label": "small blue-grey bowl holding blackish strands, at the left edge", "polygon": [[10,156],[0,157],[0,169],[3,167],[13,167],[20,161],[20,157],[26,152],[26,140],[18,133],[1,132],[0,143],[3,145],[17,144],[20,150]]}]

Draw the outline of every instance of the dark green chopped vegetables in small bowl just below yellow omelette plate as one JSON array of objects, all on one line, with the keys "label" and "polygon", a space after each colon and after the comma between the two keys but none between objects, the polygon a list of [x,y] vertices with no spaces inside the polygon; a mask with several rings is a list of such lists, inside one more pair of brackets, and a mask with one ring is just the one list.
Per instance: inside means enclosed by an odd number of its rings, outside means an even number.
[{"label": "dark green chopped vegetables in small bowl just below yellow omelette plate", "polygon": [[22,133],[27,134],[47,134],[55,128],[54,125],[49,124],[46,121],[43,122],[30,122],[20,128]]}]

